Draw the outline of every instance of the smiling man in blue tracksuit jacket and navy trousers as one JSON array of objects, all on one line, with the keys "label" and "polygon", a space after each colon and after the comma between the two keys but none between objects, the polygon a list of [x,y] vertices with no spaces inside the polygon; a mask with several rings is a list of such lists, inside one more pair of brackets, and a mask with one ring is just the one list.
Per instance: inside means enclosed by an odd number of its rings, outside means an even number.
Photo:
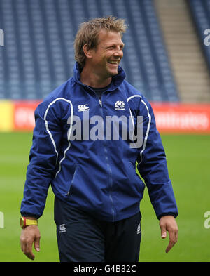
[{"label": "smiling man in blue tracksuit jacket and navy trousers", "polygon": [[[168,252],[178,238],[178,210],[169,179],[165,150],[151,105],[119,66],[123,58],[125,21],[95,18],[80,25],[75,39],[73,77],[38,105],[33,145],[21,205],[22,251],[34,259],[39,251],[38,218],[49,185],[55,193],[55,223],[60,261],[139,261],[141,213],[145,185],[160,220],[161,236],[169,232]],[[100,118],[132,117],[132,132],[143,121],[143,143],[130,138],[88,139],[85,130],[71,140],[74,119],[83,126]],[[123,124],[123,123],[122,123]],[[81,124],[80,124],[81,125]],[[110,128],[111,131],[111,128]],[[109,134],[109,133],[108,133]],[[127,136],[128,137],[128,136]]]}]

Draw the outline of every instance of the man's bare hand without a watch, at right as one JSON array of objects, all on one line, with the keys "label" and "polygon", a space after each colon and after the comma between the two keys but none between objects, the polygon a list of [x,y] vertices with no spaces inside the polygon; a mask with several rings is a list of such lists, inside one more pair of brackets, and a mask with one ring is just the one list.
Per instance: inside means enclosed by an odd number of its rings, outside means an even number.
[{"label": "man's bare hand without a watch, at right", "polygon": [[174,216],[162,216],[160,218],[160,229],[162,239],[165,239],[167,237],[167,231],[169,232],[169,245],[165,250],[168,253],[178,240],[178,225]]}]

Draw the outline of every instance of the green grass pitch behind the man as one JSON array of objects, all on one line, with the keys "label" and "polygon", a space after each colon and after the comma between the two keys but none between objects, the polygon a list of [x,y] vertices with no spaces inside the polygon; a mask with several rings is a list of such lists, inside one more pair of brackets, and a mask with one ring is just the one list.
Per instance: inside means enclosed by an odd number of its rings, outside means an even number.
[{"label": "green grass pitch behind the man", "polygon": [[[30,261],[20,249],[19,218],[31,139],[31,133],[0,133],[0,211],[4,214],[0,261]],[[162,141],[179,207],[179,242],[165,253],[168,239],[160,237],[159,221],[145,190],[139,261],[210,261],[210,228],[204,228],[204,213],[210,211],[210,136],[162,135]],[[34,261],[59,261],[51,188],[39,229],[41,251]]]}]

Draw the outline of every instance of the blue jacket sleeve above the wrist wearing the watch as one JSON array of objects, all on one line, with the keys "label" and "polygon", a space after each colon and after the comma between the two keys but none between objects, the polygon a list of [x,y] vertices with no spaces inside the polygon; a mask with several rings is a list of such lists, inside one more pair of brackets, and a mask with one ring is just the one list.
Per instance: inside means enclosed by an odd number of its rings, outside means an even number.
[{"label": "blue jacket sleeve above the wrist wearing the watch", "polygon": [[20,213],[39,218],[45,207],[50,181],[55,176],[61,126],[55,106],[46,103],[36,108],[35,122]]}]

